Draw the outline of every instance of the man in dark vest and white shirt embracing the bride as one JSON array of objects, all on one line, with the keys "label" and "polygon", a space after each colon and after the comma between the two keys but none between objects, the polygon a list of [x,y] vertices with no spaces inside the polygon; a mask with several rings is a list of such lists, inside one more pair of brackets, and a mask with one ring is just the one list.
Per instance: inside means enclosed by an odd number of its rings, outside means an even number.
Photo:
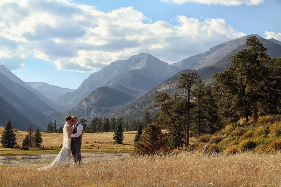
[{"label": "man in dark vest and white shirt embracing the bride", "polygon": [[71,137],[71,152],[75,165],[81,166],[82,157],[81,157],[81,145],[82,145],[82,131],[83,126],[77,122],[77,117],[72,116],[72,132],[73,134],[68,134],[68,137]]}]

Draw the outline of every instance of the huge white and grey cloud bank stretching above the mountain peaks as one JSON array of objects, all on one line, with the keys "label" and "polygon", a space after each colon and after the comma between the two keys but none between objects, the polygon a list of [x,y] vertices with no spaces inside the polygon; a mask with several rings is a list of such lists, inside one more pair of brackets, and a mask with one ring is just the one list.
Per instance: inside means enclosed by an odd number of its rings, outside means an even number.
[{"label": "huge white and grey cloud bank stretching above the mountain peaks", "polygon": [[143,52],[174,63],[245,36],[219,18],[177,16],[171,25],[151,22],[133,7],[101,12],[64,0],[10,0],[0,2],[0,12],[0,64],[10,69],[31,54],[81,72]]}]

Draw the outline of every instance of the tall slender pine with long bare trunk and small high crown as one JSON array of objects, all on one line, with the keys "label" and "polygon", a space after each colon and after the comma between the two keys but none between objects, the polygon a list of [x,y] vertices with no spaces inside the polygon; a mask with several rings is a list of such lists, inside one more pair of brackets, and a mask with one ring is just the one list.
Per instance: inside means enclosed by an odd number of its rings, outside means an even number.
[{"label": "tall slender pine with long bare trunk and small high crown", "polygon": [[191,118],[190,110],[192,108],[192,103],[190,102],[191,88],[193,84],[196,83],[196,79],[198,78],[199,77],[195,72],[182,73],[180,77],[180,81],[177,85],[177,88],[181,90],[180,95],[184,95],[186,97],[185,100],[186,104],[183,110],[186,116],[185,122],[183,122],[185,147],[189,145],[189,130],[190,130],[190,118]]}]

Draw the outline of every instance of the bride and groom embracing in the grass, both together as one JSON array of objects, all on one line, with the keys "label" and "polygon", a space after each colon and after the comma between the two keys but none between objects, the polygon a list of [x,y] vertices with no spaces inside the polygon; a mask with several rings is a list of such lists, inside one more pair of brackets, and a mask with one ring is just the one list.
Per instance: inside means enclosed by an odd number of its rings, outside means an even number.
[{"label": "bride and groom embracing in the grass, both together", "polygon": [[[54,166],[69,167],[71,153],[75,162],[75,165],[81,166],[81,145],[83,126],[79,124],[76,116],[65,117],[66,123],[63,127],[63,142],[62,149],[57,155],[55,160],[47,166],[38,168],[38,170],[49,170]],[[71,127],[71,123],[74,125]]]}]

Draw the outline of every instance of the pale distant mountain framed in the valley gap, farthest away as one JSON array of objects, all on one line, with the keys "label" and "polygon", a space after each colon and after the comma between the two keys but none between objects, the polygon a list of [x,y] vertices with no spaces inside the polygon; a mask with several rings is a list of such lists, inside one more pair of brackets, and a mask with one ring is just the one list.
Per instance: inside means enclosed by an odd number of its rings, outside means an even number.
[{"label": "pale distant mountain framed in the valley gap, farthest away", "polygon": [[65,93],[73,92],[75,89],[62,88],[59,86],[43,83],[43,82],[26,82],[33,89],[36,89],[38,92],[42,93],[46,98],[51,101],[56,100]]}]

